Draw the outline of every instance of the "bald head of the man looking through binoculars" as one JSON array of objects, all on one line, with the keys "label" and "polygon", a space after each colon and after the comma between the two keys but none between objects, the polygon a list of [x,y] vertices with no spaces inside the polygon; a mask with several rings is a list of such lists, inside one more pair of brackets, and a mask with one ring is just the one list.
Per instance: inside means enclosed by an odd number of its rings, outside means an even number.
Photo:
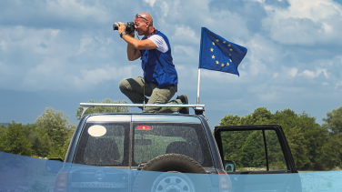
[{"label": "bald head of the man looking through binoculars", "polygon": [[155,30],[155,27],[153,27],[153,18],[147,13],[136,14],[135,26],[138,35],[147,36]]}]

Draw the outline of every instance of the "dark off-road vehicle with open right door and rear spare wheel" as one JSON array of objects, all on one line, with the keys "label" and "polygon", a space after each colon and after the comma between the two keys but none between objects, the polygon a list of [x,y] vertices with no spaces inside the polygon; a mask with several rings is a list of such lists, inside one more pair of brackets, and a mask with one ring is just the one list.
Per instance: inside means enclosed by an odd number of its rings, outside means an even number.
[{"label": "dark off-road vehicle with open right door and rear spare wheel", "polygon": [[46,162],[58,173],[55,192],[301,192],[281,126],[213,131],[196,114],[83,116],[65,160]]}]

